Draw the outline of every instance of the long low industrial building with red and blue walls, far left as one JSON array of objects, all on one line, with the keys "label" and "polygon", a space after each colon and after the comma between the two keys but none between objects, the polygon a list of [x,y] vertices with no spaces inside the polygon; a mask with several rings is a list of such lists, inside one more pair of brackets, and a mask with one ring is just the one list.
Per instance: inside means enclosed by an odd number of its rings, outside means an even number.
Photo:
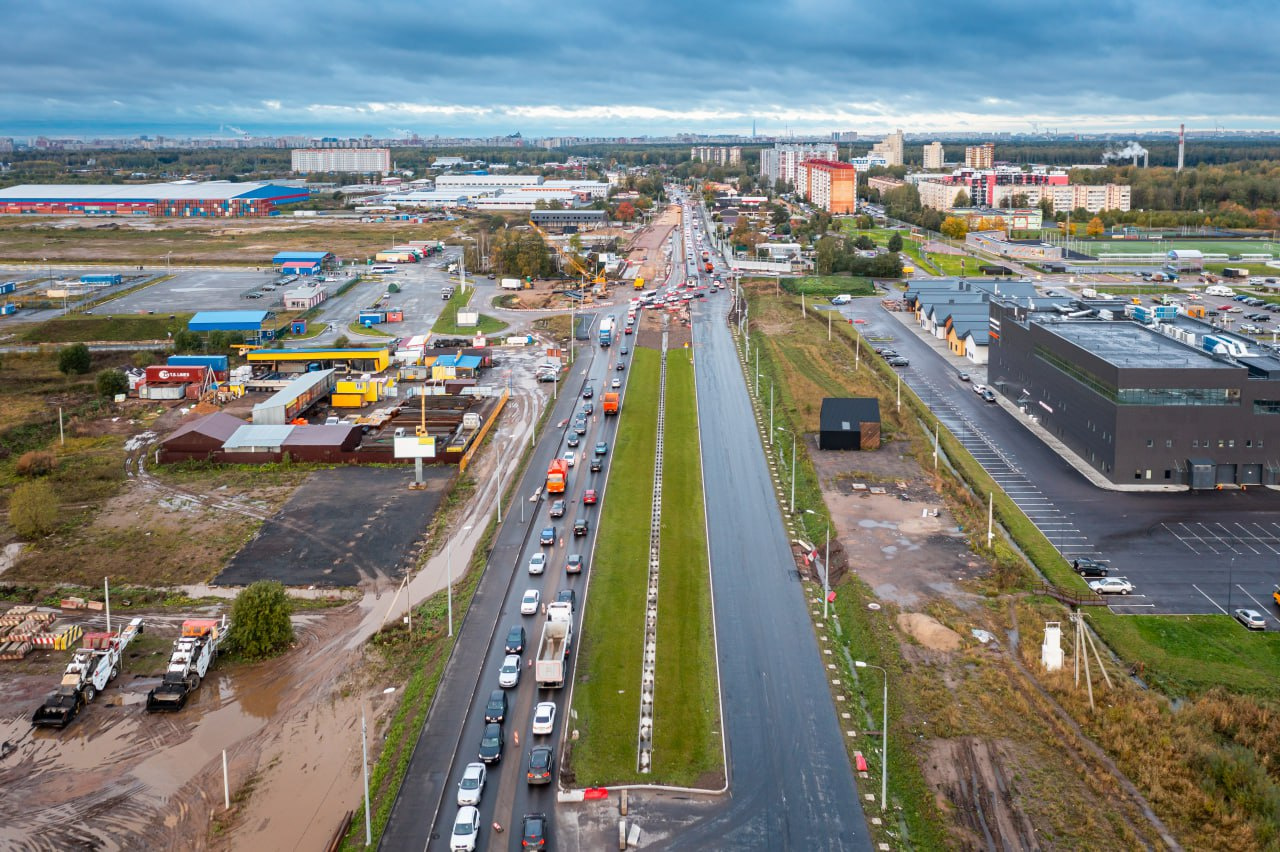
[{"label": "long low industrial building with red and blue walls, far left", "polygon": [[305,188],[225,180],[146,184],[22,184],[0,189],[0,214],[83,216],[274,216],[307,201]]}]

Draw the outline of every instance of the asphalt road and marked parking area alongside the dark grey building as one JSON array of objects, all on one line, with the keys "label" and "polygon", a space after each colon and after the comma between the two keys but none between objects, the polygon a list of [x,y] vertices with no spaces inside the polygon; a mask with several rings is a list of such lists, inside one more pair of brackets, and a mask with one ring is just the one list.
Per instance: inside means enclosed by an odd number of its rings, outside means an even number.
[{"label": "asphalt road and marked parking area alongside the dark grey building", "polygon": [[[1256,609],[1280,628],[1270,605],[1280,573],[1280,494],[1249,491],[1133,493],[1096,487],[1001,406],[984,403],[960,370],[983,367],[943,357],[876,299],[855,299],[846,317],[869,340],[910,361],[902,381],[957,435],[1009,496],[1069,559],[1098,558],[1135,592],[1111,599],[1117,613],[1229,613]],[[910,322],[910,319],[908,319]]]}]

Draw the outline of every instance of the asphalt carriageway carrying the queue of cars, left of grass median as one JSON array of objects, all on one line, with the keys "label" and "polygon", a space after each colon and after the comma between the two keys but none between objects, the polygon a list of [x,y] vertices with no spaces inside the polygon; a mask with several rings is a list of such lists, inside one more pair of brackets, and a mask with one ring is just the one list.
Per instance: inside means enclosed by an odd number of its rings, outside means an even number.
[{"label": "asphalt carriageway carrying the queue of cars, left of grass median", "polygon": [[[626,343],[626,339],[623,339]],[[630,344],[628,344],[630,345]],[[489,692],[498,687],[498,668],[504,651],[502,647],[507,628],[524,624],[526,645],[524,660],[536,655],[538,640],[541,633],[543,615],[520,615],[520,599],[526,588],[538,588],[543,601],[553,600],[561,588],[573,588],[577,595],[577,614],[575,628],[581,623],[581,609],[589,605],[588,576],[591,569],[591,555],[595,541],[595,521],[598,508],[581,505],[582,491],[588,487],[600,490],[600,503],[608,499],[604,487],[612,461],[612,446],[617,431],[616,418],[605,418],[602,412],[600,397],[614,376],[613,363],[620,345],[600,349],[596,345],[584,353],[563,384],[564,393],[554,406],[550,427],[534,452],[529,468],[521,480],[515,505],[508,507],[503,525],[499,528],[489,564],[476,590],[471,609],[460,628],[458,642],[440,681],[435,701],[428,716],[410,762],[404,784],[392,811],[387,832],[383,835],[383,849],[416,851],[424,848],[447,848],[449,830],[457,812],[454,803],[456,784],[467,762],[477,760],[480,734],[484,727],[484,705]],[[541,496],[529,498],[539,491],[545,482],[547,464],[561,455],[564,438],[571,427],[571,414],[581,407],[581,389],[590,383],[595,390],[595,413],[589,418],[589,429],[576,449],[577,464],[572,468],[570,486],[566,491],[568,503],[563,518],[554,521],[558,540],[554,548],[538,545],[538,533],[552,521],[548,517],[549,500]],[[599,473],[589,471],[590,457],[595,441],[607,440],[611,454],[605,455],[605,468]],[[572,523],[576,517],[585,516],[591,522],[586,537],[576,541],[572,536]],[[563,544],[561,544],[563,541]],[[541,576],[527,573],[529,556],[532,553],[548,554],[548,568]],[[588,555],[586,572],[566,574],[564,559],[570,553]],[[576,659],[577,642],[572,646]],[[568,677],[573,675],[571,661]],[[481,847],[520,848],[520,820],[526,812],[543,811],[552,815],[556,809],[556,785],[529,787],[524,771],[529,748],[538,745],[557,746],[563,734],[567,690],[538,690],[532,682],[532,670],[525,668],[521,683],[507,691],[508,713],[503,725],[504,750],[500,762],[489,768],[489,779],[481,800]],[[556,701],[558,705],[556,730],[552,737],[535,741],[530,734],[532,709],[536,701]],[[518,732],[520,745],[513,734]],[[559,766],[557,764],[557,773]],[[507,828],[497,840],[492,824],[500,823]]]}]

